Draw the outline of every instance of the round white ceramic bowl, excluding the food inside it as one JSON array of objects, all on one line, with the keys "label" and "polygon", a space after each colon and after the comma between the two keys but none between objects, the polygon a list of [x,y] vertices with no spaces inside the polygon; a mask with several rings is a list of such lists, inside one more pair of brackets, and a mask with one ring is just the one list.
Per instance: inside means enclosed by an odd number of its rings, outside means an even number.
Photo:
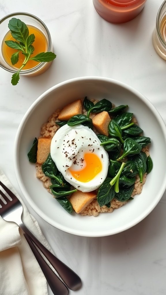
[{"label": "round white ceramic bowl, excluding the food inside it", "polygon": [[[67,213],[35,176],[35,164],[27,153],[40,127],[54,110],[87,96],[110,99],[116,106],[128,104],[149,145],[153,170],[148,174],[141,194],[113,213],[97,217]],[[14,147],[14,167],[19,187],[34,211],[52,226],[74,235],[101,237],[127,230],[144,219],[157,205],[166,189],[166,126],[150,101],[135,89],[110,78],[80,77],[59,83],[45,91],[30,106],[19,125]]]}]

